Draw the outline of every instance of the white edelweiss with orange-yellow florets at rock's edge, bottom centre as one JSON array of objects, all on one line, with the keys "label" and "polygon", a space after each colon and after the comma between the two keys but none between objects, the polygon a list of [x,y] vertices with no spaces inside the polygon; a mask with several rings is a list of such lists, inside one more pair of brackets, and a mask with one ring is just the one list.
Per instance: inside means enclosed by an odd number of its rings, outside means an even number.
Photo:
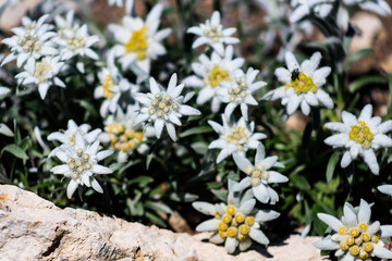
[{"label": "white edelweiss with orange-yellow florets at rock's edge, bottom centre", "polygon": [[[231,186],[235,186],[235,183]],[[240,198],[234,197],[229,185],[228,204],[200,201],[192,204],[201,213],[213,216],[200,223],[196,231],[213,232],[209,240],[213,244],[224,244],[229,253],[234,252],[236,247],[240,251],[245,251],[250,247],[252,240],[268,245],[269,239],[261,232],[260,223],[277,219],[279,213],[273,210],[257,210],[255,204],[256,200],[250,189]]]}]

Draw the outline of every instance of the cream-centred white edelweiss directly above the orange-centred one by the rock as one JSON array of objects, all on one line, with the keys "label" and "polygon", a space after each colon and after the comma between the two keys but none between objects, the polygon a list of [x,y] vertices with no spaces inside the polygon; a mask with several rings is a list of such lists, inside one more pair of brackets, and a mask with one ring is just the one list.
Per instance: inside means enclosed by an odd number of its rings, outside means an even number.
[{"label": "cream-centred white edelweiss directly above the orange-centred one by the rock", "polygon": [[270,171],[272,166],[283,167],[284,165],[278,162],[278,157],[267,157],[265,147],[259,144],[255,157],[255,165],[253,165],[245,157],[234,153],[233,159],[235,164],[245,172],[248,176],[241,181],[236,189],[243,190],[252,187],[255,197],[262,203],[274,204],[279,200],[279,196],[269,184],[284,183],[289,178],[279,172]]}]

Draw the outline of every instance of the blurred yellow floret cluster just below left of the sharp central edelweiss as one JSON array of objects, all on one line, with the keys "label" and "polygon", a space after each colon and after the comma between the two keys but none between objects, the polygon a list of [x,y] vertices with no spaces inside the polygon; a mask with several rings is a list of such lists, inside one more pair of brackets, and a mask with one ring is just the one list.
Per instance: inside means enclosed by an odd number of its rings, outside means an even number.
[{"label": "blurred yellow floret cluster just below left of the sharp central edelweiss", "polygon": [[123,152],[130,151],[143,140],[143,133],[125,128],[123,124],[109,124],[107,132],[110,134],[111,147]]}]

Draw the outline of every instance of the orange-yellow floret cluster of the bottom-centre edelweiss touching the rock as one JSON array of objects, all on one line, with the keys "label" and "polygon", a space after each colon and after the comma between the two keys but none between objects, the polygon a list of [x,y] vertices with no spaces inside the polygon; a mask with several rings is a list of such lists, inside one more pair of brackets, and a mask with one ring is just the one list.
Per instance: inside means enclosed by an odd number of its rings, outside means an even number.
[{"label": "orange-yellow floret cluster of the bottom-centre edelweiss touching the rock", "polygon": [[218,225],[219,235],[222,238],[235,237],[237,240],[245,240],[248,236],[250,226],[255,223],[255,217],[252,215],[244,215],[238,212],[235,207],[228,206],[223,215],[218,215],[221,222]]}]

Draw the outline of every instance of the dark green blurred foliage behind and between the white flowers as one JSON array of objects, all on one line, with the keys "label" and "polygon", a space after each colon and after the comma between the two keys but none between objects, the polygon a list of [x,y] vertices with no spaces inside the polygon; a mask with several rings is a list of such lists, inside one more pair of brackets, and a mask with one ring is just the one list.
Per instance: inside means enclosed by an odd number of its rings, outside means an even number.
[{"label": "dark green blurred foliage behind and between the white flowers", "polygon": [[[135,2],[135,12],[142,16],[156,3]],[[83,2],[75,3],[78,8],[77,16],[89,25],[90,32],[105,37],[97,47],[98,53],[102,53],[113,45],[106,25],[118,22],[123,15],[122,11],[110,8],[110,14],[99,15],[99,12],[103,13],[102,10],[107,9],[106,1],[90,3],[91,9]],[[331,23],[320,24],[310,16],[309,21],[315,25],[314,32],[298,42],[295,54],[303,61],[315,51],[321,51],[322,65],[333,69],[324,89],[334,100],[335,108],[313,108],[310,116],[297,112],[289,117],[280,101],[270,102],[261,100],[261,97],[281,85],[273,73],[277,67],[284,66],[281,48],[295,33],[283,17],[266,23],[264,11],[257,7],[254,1],[171,1],[162,15],[161,27],[171,27],[173,34],[166,41],[168,53],[154,62],[151,75],[163,86],[168,82],[168,75],[174,72],[180,78],[189,75],[191,63],[197,60],[199,52],[191,49],[194,37],[185,34],[185,30],[203,23],[212,9],[221,10],[223,22],[237,28],[242,42],[236,48],[236,54],[245,58],[244,67],[260,70],[258,78],[268,83],[257,94],[259,105],[253,107],[249,115],[255,121],[257,130],[268,136],[262,140],[267,154],[279,157],[285,165],[280,172],[289,177],[287,183],[274,186],[280,195],[275,206],[258,202],[260,209],[273,209],[281,213],[278,220],[269,223],[269,231],[282,237],[311,224],[309,235],[322,235],[327,227],[317,219],[318,212],[339,216],[345,201],[355,206],[360,198],[375,202],[373,217],[388,223],[391,220],[392,201],[380,195],[375,187],[391,182],[391,153],[387,150],[378,151],[381,170],[379,176],[372,175],[362,160],[355,160],[350,167],[343,170],[340,167],[342,152],[323,142],[331,135],[323,124],[340,122],[342,110],[358,115],[366,103],[372,103],[376,114],[382,116],[383,121],[391,119],[392,101],[389,94],[392,76],[388,66],[380,66],[379,60],[376,66],[365,72],[353,70],[366,59],[378,60],[380,52],[385,57],[391,55],[391,48],[388,52],[372,47],[353,51],[353,48],[348,48],[350,44],[359,36],[348,33],[323,35],[322,32],[331,32],[330,27],[333,28],[334,23],[330,21]],[[254,22],[257,14],[259,21]],[[33,8],[27,15],[39,17],[39,5]],[[248,18],[244,18],[245,15]],[[391,22],[380,21],[384,24]],[[391,28],[382,27],[381,33],[378,33],[387,35],[387,42],[392,39],[389,30]],[[267,41],[267,33],[271,32],[275,35],[272,45]],[[4,27],[0,30],[2,38],[10,35]],[[9,51],[3,45],[0,48],[2,53]],[[383,47],[379,45],[377,48]],[[45,100],[39,98],[37,91],[17,86],[13,78],[17,73],[14,66],[1,69],[0,85],[10,87],[11,94],[1,102],[0,119],[14,135],[2,135],[0,139],[0,183],[32,190],[62,208],[84,208],[177,232],[192,232],[206,216],[195,211],[191,202],[196,199],[224,201],[228,178],[240,181],[245,175],[237,170],[231,158],[216,164],[218,151],[208,150],[208,145],[217,138],[217,134],[207,121],[220,122],[220,114],[211,114],[209,104],[197,108],[203,112],[201,116],[189,119],[177,129],[177,142],[172,142],[167,136],[158,140],[148,139],[146,142],[149,151],[146,156],[135,151],[125,163],[117,163],[115,154],[106,159],[105,164],[110,165],[114,173],[97,177],[103,187],[103,195],[84,188],[83,194],[74,195],[70,200],[65,195],[66,179],[49,172],[57,164],[54,160],[47,159],[50,150],[56,147],[46,140],[50,133],[65,129],[70,119],[77,124],[88,123],[93,129],[103,127],[103,120],[99,115],[101,101],[93,96],[94,89],[99,85],[97,72],[102,62],[84,62],[85,74],[71,67],[70,73],[62,78],[68,87],[51,88]],[[135,80],[132,73],[125,76],[131,82]],[[193,105],[196,107],[195,103]],[[236,119],[240,117],[237,113],[235,112]],[[37,142],[35,126],[39,127],[48,148],[42,148]],[[0,126],[0,132],[7,134],[3,129]],[[254,153],[249,151],[248,158],[253,159]]]}]

